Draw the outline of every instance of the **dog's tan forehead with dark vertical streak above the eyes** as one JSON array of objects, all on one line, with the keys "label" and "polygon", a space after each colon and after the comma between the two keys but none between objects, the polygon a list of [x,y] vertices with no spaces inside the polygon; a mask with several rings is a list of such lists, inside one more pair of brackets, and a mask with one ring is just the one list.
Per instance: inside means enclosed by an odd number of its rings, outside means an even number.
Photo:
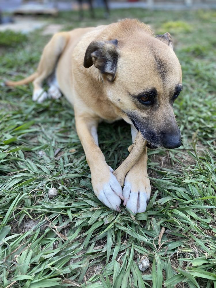
[{"label": "dog's tan forehead with dark vertical streak above the eyes", "polygon": [[142,83],[146,87],[181,82],[181,66],[177,56],[166,44],[157,42],[139,43],[122,49],[117,69],[123,81],[129,81],[134,86]]}]

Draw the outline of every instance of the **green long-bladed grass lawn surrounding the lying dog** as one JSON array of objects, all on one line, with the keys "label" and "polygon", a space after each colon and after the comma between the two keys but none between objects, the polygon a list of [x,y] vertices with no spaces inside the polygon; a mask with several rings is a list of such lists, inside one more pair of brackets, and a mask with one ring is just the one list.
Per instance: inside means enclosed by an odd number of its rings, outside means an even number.
[{"label": "green long-bladed grass lawn surrounding the lying dog", "polygon": [[[184,146],[149,150],[147,211],[116,213],[94,196],[69,103],[33,103],[31,85],[2,86],[0,287],[216,287],[215,15],[130,9],[109,20],[48,19],[71,29],[134,17],[172,32],[183,70],[174,110]],[[1,81],[34,71],[49,39],[40,33],[1,50]],[[103,123],[99,142],[115,169],[128,155],[130,128]],[[50,188],[58,190],[53,199]],[[143,255],[150,268],[142,273]]]}]

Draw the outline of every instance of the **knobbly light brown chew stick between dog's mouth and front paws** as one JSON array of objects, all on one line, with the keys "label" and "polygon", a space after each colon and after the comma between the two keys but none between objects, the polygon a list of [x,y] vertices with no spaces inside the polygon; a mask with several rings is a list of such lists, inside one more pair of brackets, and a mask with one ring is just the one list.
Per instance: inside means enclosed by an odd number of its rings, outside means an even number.
[{"label": "knobbly light brown chew stick between dog's mouth and front paws", "polygon": [[124,178],[126,174],[140,158],[147,143],[148,141],[143,139],[141,132],[139,132],[134,143],[128,147],[130,154],[124,160],[124,162],[113,172],[113,175],[115,175],[122,187],[124,186]]}]

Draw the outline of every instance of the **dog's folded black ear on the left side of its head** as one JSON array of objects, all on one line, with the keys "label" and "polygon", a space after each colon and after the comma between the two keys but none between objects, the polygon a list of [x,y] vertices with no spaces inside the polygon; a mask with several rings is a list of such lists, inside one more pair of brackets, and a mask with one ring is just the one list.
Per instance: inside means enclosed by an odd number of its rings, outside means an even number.
[{"label": "dog's folded black ear on the left side of its head", "polygon": [[107,75],[109,81],[113,81],[118,60],[117,46],[117,39],[91,42],[86,49],[83,66],[89,68],[94,64],[101,73]]}]

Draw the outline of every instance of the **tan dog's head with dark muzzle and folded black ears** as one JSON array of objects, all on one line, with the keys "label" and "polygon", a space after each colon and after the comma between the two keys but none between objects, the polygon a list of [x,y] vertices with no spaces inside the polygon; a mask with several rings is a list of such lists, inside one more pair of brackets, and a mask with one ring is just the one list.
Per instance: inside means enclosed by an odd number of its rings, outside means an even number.
[{"label": "tan dog's head with dark muzzle and folded black ears", "polygon": [[169,33],[132,37],[130,43],[93,41],[84,67],[93,64],[110,101],[141,131],[149,147],[181,145],[173,102],[182,90],[182,73]]}]

